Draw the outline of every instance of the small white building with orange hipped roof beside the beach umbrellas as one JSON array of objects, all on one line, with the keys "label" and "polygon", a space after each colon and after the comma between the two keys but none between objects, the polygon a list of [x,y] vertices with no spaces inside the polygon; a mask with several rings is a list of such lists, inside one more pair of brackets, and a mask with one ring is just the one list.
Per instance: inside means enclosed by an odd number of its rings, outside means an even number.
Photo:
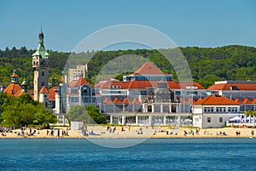
[{"label": "small white building with orange hipped roof beside the beach umbrellas", "polygon": [[198,128],[221,128],[232,117],[238,117],[240,104],[222,95],[210,95],[194,102],[193,126]]}]

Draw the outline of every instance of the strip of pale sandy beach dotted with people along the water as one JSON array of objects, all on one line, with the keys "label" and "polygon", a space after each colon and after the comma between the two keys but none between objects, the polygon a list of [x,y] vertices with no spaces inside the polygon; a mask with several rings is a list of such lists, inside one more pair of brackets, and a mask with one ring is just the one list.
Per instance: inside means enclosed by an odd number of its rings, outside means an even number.
[{"label": "strip of pale sandy beach dotted with people along the water", "polygon": [[[170,127],[114,127],[89,126],[88,136],[82,134],[82,130],[68,129],[68,135],[62,134],[67,131],[65,127],[55,127],[53,136],[51,129],[36,130],[30,135],[30,130],[25,129],[24,136],[18,135],[20,129],[12,133],[0,134],[0,138],[254,138],[256,128],[170,128]],[[58,130],[60,136],[58,136]],[[48,134],[47,134],[48,133]]]}]

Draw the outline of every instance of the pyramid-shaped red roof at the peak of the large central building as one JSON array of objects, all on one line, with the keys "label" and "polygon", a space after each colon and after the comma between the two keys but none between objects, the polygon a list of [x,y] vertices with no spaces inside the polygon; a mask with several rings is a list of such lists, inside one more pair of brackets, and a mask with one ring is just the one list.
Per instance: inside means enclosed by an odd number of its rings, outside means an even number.
[{"label": "pyramid-shaped red roof at the peak of the large central building", "polygon": [[164,73],[160,71],[156,66],[154,66],[151,62],[146,62],[141,66],[137,71],[134,72],[134,74],[140,74],[140,75],[148,75],[148,74],[160,74],[163,75]]}]

